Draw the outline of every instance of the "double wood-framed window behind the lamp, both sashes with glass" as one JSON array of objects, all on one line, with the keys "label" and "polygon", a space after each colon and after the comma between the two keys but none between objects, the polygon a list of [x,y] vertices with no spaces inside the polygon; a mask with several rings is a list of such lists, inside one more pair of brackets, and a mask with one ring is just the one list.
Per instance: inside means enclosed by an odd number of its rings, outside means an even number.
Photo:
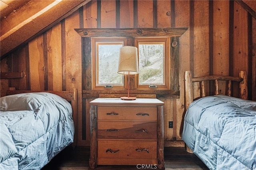
[{"label": "double wood-framed window behind the lamp, both sashes with glass", "polygon": [[[139,74],[135,75],[135,89],[170,89],[170,38],[134,38],[138,48]],[[125,89],[128,79],[118,74],[119,48],[127,38],[92,38],[92,88]]]}]

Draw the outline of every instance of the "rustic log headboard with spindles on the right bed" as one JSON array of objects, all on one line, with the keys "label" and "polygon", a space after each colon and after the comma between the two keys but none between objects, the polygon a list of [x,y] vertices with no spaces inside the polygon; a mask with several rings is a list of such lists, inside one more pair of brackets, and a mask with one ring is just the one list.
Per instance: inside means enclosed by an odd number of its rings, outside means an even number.
[{"label": "rustic log headboard with spindles on the right bed", "polygon": [[228,87],[227,87],[227,94],[228,96],[231,96],[231,83],[232,81],[239,82],[239,89],[240,89],[240,98],[241,99],[247,99],[248,98],[248,91],[247,91],[247,75],[246,71],[239,71],[239,77],[232,77],[232,76],[223,76],[223,75],[206,75],[202,77],[192,77],[191,71],[185,71],[185,107],[186,110],[188,109],[188,106],[193,102],[194,100],[194,88],[193,83],[194,82],[200,82],[200,91],[201,96],[205,97],[205,89],[204,89],[204,82],[213,80],[215,81],[215,95],[218,95],[219,91],[219,85],[218,81],[228,81]]}]

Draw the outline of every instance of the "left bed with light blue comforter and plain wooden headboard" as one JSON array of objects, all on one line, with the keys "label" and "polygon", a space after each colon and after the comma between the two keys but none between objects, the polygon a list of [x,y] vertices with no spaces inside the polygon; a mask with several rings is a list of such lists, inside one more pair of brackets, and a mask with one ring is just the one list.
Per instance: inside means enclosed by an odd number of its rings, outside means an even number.
[{"label": "left bed with light blue comforter and plain wooden headboard", "polygon": [[76,145],[74,91],[7,91],[0,98],[0,170],[40,170]]}]

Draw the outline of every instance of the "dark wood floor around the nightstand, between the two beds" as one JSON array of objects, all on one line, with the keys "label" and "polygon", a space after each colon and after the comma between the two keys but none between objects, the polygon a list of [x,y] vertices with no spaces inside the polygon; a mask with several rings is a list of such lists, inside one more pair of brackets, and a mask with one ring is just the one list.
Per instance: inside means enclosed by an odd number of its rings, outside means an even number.
[{"label": "dark wood floor around the nightstand, between the two beds", "polygon": [[[74,150],[68,146],[55,156],[42,170],[90,170],[88,168],[89,156],[90,148],[88,146],[77,146]],[[164,159],[166,170],[208,170],[196,155],[186,152],[183,147],[165,147]],[[137,169],[136,166],[98,165],[95,170]]]}]

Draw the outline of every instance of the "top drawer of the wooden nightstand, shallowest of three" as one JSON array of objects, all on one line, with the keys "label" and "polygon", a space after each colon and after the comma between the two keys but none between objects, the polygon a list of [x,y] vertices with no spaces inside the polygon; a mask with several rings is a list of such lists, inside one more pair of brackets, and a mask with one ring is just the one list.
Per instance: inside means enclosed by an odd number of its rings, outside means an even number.
[{"label": "top drawer of the wooden nightstand, shallowest of three", "polygon": [[98,107],[98,120],[156,121],[156,107]]}]

